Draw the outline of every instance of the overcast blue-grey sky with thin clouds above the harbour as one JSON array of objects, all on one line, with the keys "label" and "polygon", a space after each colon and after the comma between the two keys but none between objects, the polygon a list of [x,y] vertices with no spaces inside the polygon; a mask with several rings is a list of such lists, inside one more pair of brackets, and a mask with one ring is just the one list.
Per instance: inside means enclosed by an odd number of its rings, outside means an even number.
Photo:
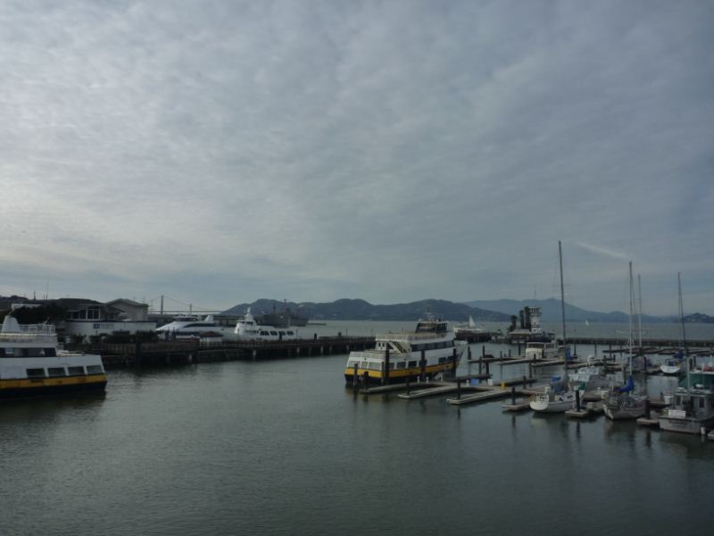
[{"label": "overcast blue-grey sky with thin clouds above the harbour", "polygon": [[[714,314],[710,1],[6,0],[0,295]],[[168,302],[167,302],[168,303]]]}]

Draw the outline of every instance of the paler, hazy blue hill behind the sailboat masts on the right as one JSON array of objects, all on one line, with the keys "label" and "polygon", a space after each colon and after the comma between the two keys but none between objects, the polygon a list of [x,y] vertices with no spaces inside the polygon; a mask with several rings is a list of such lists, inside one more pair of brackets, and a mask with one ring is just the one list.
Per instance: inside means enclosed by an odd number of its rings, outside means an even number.
[{"label": "paler, hazy blue hill behind the sailboat masts on the right", "polygon": [[[560,299],[554,297],[548,299],[495,299],[495,300],[474,300],[465,302],[465,305],[471,307],[480,307],[490,311],[497,311],[503,314],[519,314],[519,311],[525,306],[536,306],[541,308],[544,322],[560,322],[562,314],[560,312]],[[571,306],[568,302],[565,304],[566,320],[574,322],[627,322],[628,315],[620,311],[611,311],[610,313],[598,313],[597,311],[587,311],[580,307]],[[643,322],[670,322],[670,318],[661,316],[648,316],[643,314]]]}]

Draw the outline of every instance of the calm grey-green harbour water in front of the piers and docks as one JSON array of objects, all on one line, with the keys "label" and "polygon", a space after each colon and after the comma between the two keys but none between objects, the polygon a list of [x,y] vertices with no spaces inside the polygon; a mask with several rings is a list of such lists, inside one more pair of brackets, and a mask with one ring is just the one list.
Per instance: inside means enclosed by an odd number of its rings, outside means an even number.
[{"label": "calm grey-green harbour water in front of the piers and docks", "polygon": [[710,530],[714,442],[501,401],[355,397],[344,365],[115,371],[102,398],[4,403],[0,534]]}]

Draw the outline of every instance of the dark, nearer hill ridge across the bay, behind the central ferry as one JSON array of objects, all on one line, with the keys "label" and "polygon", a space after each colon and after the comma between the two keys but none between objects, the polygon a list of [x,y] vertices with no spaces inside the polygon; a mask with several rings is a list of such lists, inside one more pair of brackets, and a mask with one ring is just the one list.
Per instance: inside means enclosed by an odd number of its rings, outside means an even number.
[{"label": "dark, nearer hill ridge across the bay, behind the central ferry", "polygon": [[282,311],[285,307],[293,313],[307,316],[312,321],[320,320],[408,320],[416,321],[428,312],[446,320],[466,322],[469,315],[480,322],[508,322],[509,314],[487,311],[478,307],[457,304],[442,299],[424,299],[408,304],[375,306],[363,299],[338,299],[329,303],[284,304],[273,299],[259,299],[252,304],[238,304],[224,311],[224,314],[244,314],[250,307],[253,314],[271,313],[273,307]]}]

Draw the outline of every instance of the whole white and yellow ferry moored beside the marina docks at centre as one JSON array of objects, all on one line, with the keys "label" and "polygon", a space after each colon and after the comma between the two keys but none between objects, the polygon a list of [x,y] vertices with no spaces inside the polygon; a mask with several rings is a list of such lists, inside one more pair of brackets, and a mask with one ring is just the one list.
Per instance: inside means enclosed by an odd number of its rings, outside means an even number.
[{"label": "whole white and yellow ferry moored beside the marina docks at centre", "polygon": [[[397,383],[416,380],[420,374],[432,378],[438,373],[455,372],[467,342],[455,340],[448,322],[429,315],[419,320],[416,329],[386,333],[375,339],[375,348],[350,352],[345,381],[354,381],[355,367],[360,381]],[[423,358],[423,362],[422,362]]]}]

